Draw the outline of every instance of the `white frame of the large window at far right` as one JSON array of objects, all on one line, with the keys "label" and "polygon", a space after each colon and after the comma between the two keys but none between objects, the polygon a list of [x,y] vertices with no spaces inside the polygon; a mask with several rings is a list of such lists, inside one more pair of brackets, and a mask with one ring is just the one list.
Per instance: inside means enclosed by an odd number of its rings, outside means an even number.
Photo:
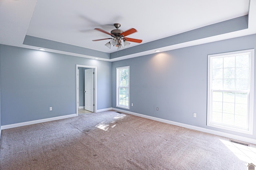
[{"label": "white frame of the large window at far right", "polygon": [[[238,127],[230,127],[225,125],[220,125],[211,122],[211,111],[212,111],[212,63],[211,59],[217,57],[229,57],[234,55],[241,55],[241,54],[249,54],[250,58],[250,75],[249,75],[249,89],[248,89],[248,129],[238,128]],[[224,90],[222,90],[224,91]],[[250,50],[243,50],[243,51],[235,51],[230,53],[221,53],[221,54],[214,54],[208,55],[208,88],[207,88],[207,126],[216,127],[220,129],[236,131],[245,134],[253,134],[253,105],[254,105],[254,49]]]}]

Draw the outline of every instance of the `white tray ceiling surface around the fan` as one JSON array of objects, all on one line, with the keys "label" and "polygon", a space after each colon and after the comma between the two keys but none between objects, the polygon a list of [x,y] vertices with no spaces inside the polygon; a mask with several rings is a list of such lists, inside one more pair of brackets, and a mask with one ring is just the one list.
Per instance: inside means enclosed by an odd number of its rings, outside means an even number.
[{"label": "white tray ceiling surface around the fan", "polygon": [[[255,0],[251,4],[255,11]],[[22,45],[30,35],[112,53],[116,47],[104,46],[108,40],[92,41],[110,37],[94,28],[110,32],[112,24],[120,23],[123,31],[137,29],[127,37],[147,43],[244,16],[248,10],[249,0],[0,0],[0,43],[35,49]],[[252,33],[256,31],[248,29],[232,37]]]}]

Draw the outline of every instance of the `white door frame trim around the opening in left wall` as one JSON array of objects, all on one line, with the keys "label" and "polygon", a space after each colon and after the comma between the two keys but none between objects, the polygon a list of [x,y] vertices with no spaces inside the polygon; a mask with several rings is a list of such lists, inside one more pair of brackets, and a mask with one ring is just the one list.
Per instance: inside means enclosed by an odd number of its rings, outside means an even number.
[{"label": "white door frame trim around the opening in left wall", "polygon": [[78,107],[79,107],[79,105],[78,105],[78,103],[79,103],[78,67],[94,68],[94,112],[97,112],[97,67],[76,64],[76,116],[78,116]]}]

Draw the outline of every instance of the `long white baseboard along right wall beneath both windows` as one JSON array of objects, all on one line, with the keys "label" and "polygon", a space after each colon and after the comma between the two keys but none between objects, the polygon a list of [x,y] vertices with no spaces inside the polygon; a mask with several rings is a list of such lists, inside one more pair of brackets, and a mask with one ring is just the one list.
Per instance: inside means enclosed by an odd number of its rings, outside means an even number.
[{"label": "long white baseboard along right wall beneath both windows", "polygon": [[175,121],[161,119],[161,118],[158,118],[158,117],[152,117],[152,116],[148,116],[148,115],[143,115],[143,114],[140,114],[140,113],[134,113],[134,112],[131,112],[131,111],[116,109],[116,108],[113,108],[113,107],[112,107],[112,110],[120,111],[120,112],[123,112],[123,113],[127,113],[127,114],[130,114],[130,115],[135,115],[135,116],[139,116],[139,117],[144,117],[144,118],[147,118],[147,119],[152,119],[152,120],[155,120],[155,121],[160,121],[160,122],[168,123],[168,124],[171,124],[171,125],[185,127],[185,128],[193,129],[193,130],[196,130],[196,131],[210,133],[210,134],[213,134],[213,135],[218,135],[218,136],[222,136],[222,137],[236,139],[238,141],[244,141],[244,142],[247,142],[247,143],[256,144],[256,139],[251,139],[251,138],[247,138],[247,137],[241,137],[241,136],[238,136],[238,135],[232,135],[232,134],[224,133],[224,132],[220,132],[220,131],[214,131],[214,130],[206,129],[206,128],[203,128],[203,127],[187,125],[187,124],[184,124],[184,123],[179,123],[179,122],[175,122]]}]

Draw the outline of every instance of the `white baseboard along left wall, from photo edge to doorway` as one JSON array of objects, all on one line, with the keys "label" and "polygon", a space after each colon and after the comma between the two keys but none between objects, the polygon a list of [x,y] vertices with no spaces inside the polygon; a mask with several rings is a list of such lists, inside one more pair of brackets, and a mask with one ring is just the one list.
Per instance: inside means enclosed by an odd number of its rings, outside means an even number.
[{"label": "white baseboard along left wall, from photo edge to doorway", "polygon": [[72,114],[72,115],[51,117],[51,118],[39,119],[39,120],[33,120],[33,121],[26,121],[26,122],[22,122],[22,123],[14,123],[14,124],[10,124],[10,125],[3,125],[3,126],[1,126],[1,129],[4,130],[4,129],[10,129],[10,128],[14,128],[14,127],[33,125],[33,124],[36,124],[36,123],[43,123],[43,122],[46,122],[46,121],[66,119],[66,118],[75,117],[75,116],[76,116],[76,114]]}]

